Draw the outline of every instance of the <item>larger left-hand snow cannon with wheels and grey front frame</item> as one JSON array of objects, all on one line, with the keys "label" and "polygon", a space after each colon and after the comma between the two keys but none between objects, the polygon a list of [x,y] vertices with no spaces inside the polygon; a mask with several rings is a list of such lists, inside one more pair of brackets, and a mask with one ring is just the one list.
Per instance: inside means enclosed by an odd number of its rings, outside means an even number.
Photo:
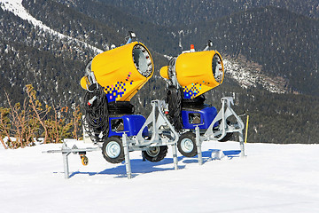
[{"label": "larger left-hand snow cannon with wheels and grey front frame", "polygon": [[81,80],[86,90],[82,103],[84,133],[111,163],[123,162],[124,158],[129,162],[128,152],[137,150],[146,160],[159,162],[166,156],[167,146],[175,146],[179,137],[165,116],[165,101],[153,100],[147,119],[134,114],[129,100],[152,77],[154,66],[150,51],[133,39],[136,36],[130,32],[125,45],[94,57]]}]

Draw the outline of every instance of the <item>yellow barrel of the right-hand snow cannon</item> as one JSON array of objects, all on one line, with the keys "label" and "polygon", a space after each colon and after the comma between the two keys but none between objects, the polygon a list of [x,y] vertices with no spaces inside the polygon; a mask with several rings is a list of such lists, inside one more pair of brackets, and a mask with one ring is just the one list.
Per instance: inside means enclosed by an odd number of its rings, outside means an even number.
[{"label": "yellow barrel of the right-hand snow cannon", "polygon": [[[159,70],[169,79],[168,66]],[[193,99],[220,85],[224,77],[222,56],[218,51],[195,51],[179,55],[175,61],[177,82],[183,87],[184,99]]]}]

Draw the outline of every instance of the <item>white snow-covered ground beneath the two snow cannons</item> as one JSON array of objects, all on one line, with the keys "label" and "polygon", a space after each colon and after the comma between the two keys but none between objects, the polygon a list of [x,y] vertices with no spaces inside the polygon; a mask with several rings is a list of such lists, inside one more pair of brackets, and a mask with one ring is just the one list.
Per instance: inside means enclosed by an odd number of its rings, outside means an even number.
[{"label": "white snow-covered ground beneath the two snow cannons", "polygon": [[244,159],[212,160],[212,150],[239,146],[205,142],[204,164],[179,154],[179,170],[171,149],[157,163],[133,152],[132,179],[100,152],[86,167],[70,154],[65,179],[62,155],[43,154],[60,147],[0,148],[1,212],[319,212],[319,145],[247,144]]}]

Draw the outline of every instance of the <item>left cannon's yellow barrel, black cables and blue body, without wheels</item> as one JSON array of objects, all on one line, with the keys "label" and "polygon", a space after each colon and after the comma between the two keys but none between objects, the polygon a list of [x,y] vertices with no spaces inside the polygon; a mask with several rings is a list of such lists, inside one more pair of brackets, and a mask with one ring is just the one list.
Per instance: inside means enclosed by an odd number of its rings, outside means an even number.
[{"label": "left cannon's yellow barrel, black cables and blue body, without wheels", "polygon": [[129,100],[152,77],[154,66],[150,51],[133,39],[136,36],[130,32],[126,44],[97,54],[85,68],[84,129],[94,142],[121,137],[122,131],[136,135],[145,122],[142,114],[134,114]]}]

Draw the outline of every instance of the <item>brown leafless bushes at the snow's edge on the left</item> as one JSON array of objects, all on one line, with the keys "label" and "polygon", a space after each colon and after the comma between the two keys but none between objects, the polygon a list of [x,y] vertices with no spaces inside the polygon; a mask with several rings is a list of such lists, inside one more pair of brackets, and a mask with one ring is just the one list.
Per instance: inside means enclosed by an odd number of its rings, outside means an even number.
[{"label": "brown leafless bushes at the snow's edge on the left", "polygon": [[[8,108],[0,108],[0,142],[4,148],[33,145],[34,138],[44,135],[43,143],[59,143],[63,138],[79,139],[82,113],[79,106],[69,110],[67,106],[44,106],[36,97],[31,84],[26,86],[27,97],[23,104],[12,105],[5,92]],[[16,140],[12,140],[10,135]],[[4,137],[8,140],[5,143]]]}]

